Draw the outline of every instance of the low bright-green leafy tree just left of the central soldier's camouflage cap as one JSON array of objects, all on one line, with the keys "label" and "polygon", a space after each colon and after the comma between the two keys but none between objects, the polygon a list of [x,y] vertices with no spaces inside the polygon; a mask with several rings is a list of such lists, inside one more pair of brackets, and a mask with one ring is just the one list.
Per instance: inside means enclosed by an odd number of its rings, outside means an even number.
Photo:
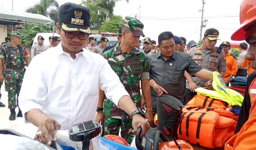
[{"label": "low bright-green leafy tree just left of the central soldier's camouflage cap", "polygon": [[109,21],[102,22],[99,32],[111,32],[117,33],[120,26],[123,24],[123,19],[121,16],[117,16],[116,19],[110,19]]}]

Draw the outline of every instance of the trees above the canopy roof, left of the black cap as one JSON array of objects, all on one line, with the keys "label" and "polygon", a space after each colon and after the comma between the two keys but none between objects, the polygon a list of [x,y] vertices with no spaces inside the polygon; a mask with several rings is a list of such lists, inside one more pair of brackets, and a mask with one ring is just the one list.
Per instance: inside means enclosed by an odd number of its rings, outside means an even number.
[{"label": "trees above the canopy roof, left of the black cap", "polygon": [[28,7],[25,12],[37,13],[58,22],[59,4],[56,0],[40,0],[40,2]]}]

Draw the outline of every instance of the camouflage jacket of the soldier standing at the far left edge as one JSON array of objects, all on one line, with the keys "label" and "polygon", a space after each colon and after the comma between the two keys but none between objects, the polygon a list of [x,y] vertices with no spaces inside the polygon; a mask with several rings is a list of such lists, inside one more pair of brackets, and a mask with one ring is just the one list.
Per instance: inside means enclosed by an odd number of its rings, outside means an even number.
[{"label": "camouflage jacket of the soldier standing at the far left edge", "polygon": [[[7,52],[8,47],[10,47],[10,50],[11,50],[9,55],[10,57],[8,56],[8,52]],[[22,56],[20,55],[19,49],[22,50]],[[17,47],[14,48],[11,45],[11,42],[8,42],[6,44],[3,44],[0,47],[0,58],[4,59],[4,64],[6,66],[11,66],[11,67],[24,66],[25,58],[27,57],[29,57],[27,49],[21,44],[19,44]],[[20,70],[12,70],[12,69],[5,68],[3,70],[3,74],[7,78],[12,78],[12,79],[19,79],[20,77],[23,78],[24,67],[23,69],[20,69]]]}]

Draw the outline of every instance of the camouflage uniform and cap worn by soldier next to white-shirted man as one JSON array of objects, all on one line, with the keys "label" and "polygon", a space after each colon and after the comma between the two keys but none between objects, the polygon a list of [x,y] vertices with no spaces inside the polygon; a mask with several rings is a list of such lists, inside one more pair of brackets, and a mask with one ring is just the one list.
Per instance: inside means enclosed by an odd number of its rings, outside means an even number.
[{"label": "camouflage uniform and cap worn by soldier next to white-shirted man", "polygon": [[[128,24],[133,26],[133,28],[136,27],[134,31],[137,34],[142,32],[143,24],[139,20],[126,16],[124,25],[128,26]],[[131,28],[130,31],[132,32]],[[140,34],[143,34],[143,32]],[[148,80],[148,72],[150,70],[148,57],[145,53],[135,47],[128,53],[122,52],[118,43],[116,47],[106,51],[102,56],[108,60],[108,64],[110,64],[112,70],[119,77],[120,82],[129,93],[136,107],[141,107],[140,80]],[[131,143],[135,135],[131,133],[133,127],[130,115],[106,98],[103,108],[105,119],[102,127],[102,135],[118,135],[119,128],[121,127],[121,136],[128,143]]]}]

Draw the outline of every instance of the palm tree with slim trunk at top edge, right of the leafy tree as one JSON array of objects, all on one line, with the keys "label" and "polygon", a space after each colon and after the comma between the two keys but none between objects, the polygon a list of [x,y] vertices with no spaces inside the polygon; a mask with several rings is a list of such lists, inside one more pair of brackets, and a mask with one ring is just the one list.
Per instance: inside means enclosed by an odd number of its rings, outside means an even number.
[{"label": "palm tree with slim trunk at top edge, right of the leafy tree", "polygon": [[[109,12],[113,12],[112,9],[115,7],[115,3],[121,0],[98,0],[98,5],[106,9],[106,21],[109,19]],[[127,3],[129,0],[125,0]],[[111,10],[110,10],[111,9]]]}]

